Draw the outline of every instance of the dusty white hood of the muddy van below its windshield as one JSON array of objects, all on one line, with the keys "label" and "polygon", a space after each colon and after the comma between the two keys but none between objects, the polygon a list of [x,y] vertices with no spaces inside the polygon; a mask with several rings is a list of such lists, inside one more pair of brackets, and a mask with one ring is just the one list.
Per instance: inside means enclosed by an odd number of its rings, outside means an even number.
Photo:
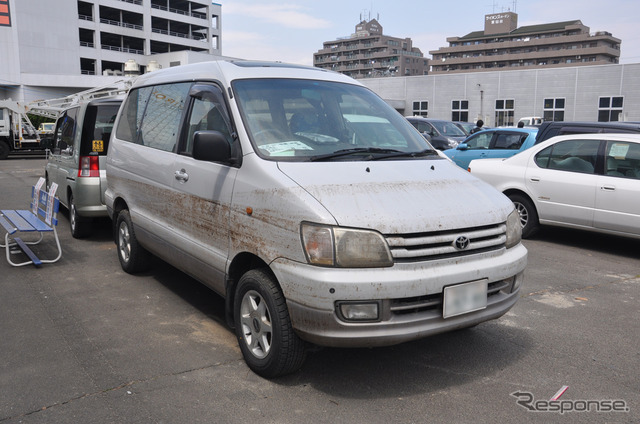
[{"label": "dusty white hood of the muddy van below its windshield", "polygon": [[504,222],[511,201],[447,160],[280,162],[341,226],[383,234]]}]

